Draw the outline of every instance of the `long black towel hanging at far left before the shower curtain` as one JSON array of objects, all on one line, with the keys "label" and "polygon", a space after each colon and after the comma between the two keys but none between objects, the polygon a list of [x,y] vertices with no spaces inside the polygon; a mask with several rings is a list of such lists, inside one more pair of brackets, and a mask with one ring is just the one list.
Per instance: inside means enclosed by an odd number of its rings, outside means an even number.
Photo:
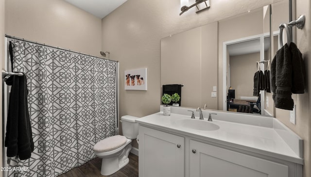
[{"label": "long black towel hanging at far left before the shower curtain", "polygon": [[9,110],[6,124],[4,145],[7,147],[7,156],[18,156],[20,160],[31,157],[34,151],[33,133],[31,129],[27,105],[27,78],[23,76],[10,76],[5,81],[12,85]]}]

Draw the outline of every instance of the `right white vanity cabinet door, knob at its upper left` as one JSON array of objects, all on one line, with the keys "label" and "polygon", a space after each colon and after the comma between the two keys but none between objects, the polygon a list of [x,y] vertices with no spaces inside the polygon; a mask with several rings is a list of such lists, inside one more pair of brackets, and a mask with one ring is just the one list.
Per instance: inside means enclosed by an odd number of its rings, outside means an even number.
[{"label": "right white vanity cabinet door, knob at its upper left", "polygon": [[288,177],[288,166],[190,140],[190,177]]}]

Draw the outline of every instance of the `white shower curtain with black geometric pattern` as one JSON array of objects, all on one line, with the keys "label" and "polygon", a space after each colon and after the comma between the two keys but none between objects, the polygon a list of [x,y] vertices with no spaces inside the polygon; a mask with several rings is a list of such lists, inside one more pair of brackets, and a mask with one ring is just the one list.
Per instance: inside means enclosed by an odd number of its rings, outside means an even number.
[{"label": "white shower curtain with black geometric pattern", "polygon": [[116,133],[116,62],[12,40],[13,70],[24,72],[35,150],[12,158],[9,177],[55,177],[95,158]]}]

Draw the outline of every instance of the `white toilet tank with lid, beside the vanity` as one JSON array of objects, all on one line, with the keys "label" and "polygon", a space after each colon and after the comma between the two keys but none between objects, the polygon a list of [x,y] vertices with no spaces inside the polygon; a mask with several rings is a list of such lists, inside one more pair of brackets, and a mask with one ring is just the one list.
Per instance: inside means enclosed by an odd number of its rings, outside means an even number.
[{"label": "white toilet tank with lid, beside the vanity", "polygon": [[139,117],[124,115],[122,120],[122,133],[128,139],[136,139],[138,135],[138,123],[135,122]]}]

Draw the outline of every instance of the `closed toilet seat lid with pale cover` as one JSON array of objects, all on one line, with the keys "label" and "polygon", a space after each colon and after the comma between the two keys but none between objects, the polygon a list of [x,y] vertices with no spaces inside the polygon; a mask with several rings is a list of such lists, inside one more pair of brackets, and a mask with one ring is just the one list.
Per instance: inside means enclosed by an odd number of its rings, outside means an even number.
[{"label": "closed toilet seat lid with pale cover", "polygon": [[94,145],[93,149],[96,152],[107,152],[125,145],[126,141],[127,139],[125,136],[115,135],[99,141]]}]

